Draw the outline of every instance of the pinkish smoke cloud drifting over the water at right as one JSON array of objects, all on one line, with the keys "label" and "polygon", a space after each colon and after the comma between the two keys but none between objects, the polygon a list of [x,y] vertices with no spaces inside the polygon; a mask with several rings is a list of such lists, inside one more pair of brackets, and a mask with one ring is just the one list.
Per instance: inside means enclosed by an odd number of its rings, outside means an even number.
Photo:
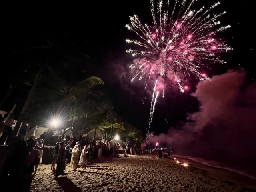
[{"label": "pinkish smoke cloud drifting over the water at right", "polygon": [[244,71],[230,70],[201,81],[192,96],[200,110],[187,115],[181,127],[150,138],[143,146],[156,142],[172,146],[174,153],[226,163],[256,160],[256,83],[246,85]]}]

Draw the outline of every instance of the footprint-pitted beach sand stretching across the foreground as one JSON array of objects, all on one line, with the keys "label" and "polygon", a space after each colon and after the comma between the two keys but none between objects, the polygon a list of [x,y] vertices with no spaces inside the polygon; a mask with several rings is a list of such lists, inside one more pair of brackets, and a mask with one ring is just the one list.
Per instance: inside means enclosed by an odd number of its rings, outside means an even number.
[{"label": "footprint-pitted beach sand stretching across the foreground", "polygon": [[[50,165],[39,165],[31,191],[36,192],[246,192],[256,186],[219,178],[217,173],[190,165],[184,167],[170,159],[155,156],[114,158],[113,162],[91,163],[75,172],[69,166],[65,175],[54,180]],[[247,178],[242,176],[243,178]],[[250,180],[248,178],[248,180]],[[255,181],[255,180],[254,180]]]}]

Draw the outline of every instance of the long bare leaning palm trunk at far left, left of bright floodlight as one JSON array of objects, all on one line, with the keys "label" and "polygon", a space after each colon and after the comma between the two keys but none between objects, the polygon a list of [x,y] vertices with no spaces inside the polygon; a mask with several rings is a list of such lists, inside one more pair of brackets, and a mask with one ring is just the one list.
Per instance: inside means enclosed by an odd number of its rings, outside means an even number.
[{"label": "long bare leaning palm trunk at far left, left of bright floodlight", "polygon": [[28,98],[20,112],[20,116],[18,118],[18,121],[16,122],[16,125],[14,127],[14,130],[12,132],[12,137],[16,137],[17,136],[17,133],[18,133],[18,130],[20,129],[20,125],[21,123],[23,122],[24,118],[25,118],[25,115],[27,113],[27,110],[32,102],[32,99],[33,99],[33,96],[34,96],[34,93],[36,92],[36,87],[38,86],[39,82],[40,82],[40,79],[41,79],[41,76],[42,76],[42,73],[44,71],[44,68],[46,67],[47,63],[49,61],[49,58],[47,59],[47,61],[40,67],[40,70],[38,71],[38,74],[36,75],[36,78],[34,80],[34,84],[28,94]]}]

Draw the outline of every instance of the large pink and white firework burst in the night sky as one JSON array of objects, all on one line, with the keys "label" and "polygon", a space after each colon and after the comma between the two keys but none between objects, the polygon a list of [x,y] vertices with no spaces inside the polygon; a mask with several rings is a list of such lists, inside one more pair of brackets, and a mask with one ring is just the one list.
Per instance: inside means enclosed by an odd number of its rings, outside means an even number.
[{"label": "large pink and white firework burst in the night sky", "polygon": [[200,80],[209,79],[202,68],[209,63],[225,63],[218,54],[232,49],[216,37],[218,32],[230,28],[230,25],[222,26],[219,21],[225,11],[211,14],[220,2],[200,10],[191,9],[194,0],[150,2],[152,25],[142,24],[136,15],[131,16],[131,24],[126,25],[138,35],[137,40],[126,40],[136,45],[135,49],[126,50],[137,58],[130,66],[138,68],[132,81],[144,80],[146,88],[151,78],[161,79],[163,86],[160,91],[164,97],[164,88],[169,82],[185,92],[188,90],[185,82],[191,75]]}]

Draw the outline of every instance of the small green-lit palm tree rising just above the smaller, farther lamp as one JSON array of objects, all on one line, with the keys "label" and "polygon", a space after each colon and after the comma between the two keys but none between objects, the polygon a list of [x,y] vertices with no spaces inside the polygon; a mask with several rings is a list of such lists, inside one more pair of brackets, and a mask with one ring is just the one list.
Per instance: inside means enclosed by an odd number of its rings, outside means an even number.
[{"label": "small green-lit palm tree rising just above the smaller, farther lamp", "polygon": [[108,138],[111,137],[112,139],[113,134],[114,132],[116,132],[116,130],[125,130],[122,125],[123,122],[118,120],[117,114],[111,110],[108,112],[107,118],[103,120],[101,127],[106,129],[110,128],[110,134],[108,135]]}]

